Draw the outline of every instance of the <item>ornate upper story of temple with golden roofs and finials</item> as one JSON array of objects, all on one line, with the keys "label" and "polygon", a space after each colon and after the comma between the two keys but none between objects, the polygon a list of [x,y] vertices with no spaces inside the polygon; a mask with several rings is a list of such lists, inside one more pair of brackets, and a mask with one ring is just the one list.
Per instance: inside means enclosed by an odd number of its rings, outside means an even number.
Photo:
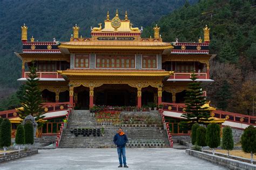
[{"label": "ornate upper story of temple with golden roofs and finials", "polygon": [[[63,75],[100,74],[147,74],[169,75],[166,81],[189,81],[191,73],[198,74],[200,81],[209,78],[210,43],[207,25],[204,27],[204,41],[163,42],[160,27],[153,27],[153,38],[142,38],[143,28],[133,27],[127,12],[120,19],[118,11],[110,19],[107,12],[104,25],[91,27],[91,38],[79,36],[79,26],[73,26],[70,41],[39,42],[33,37],[28,41],[28,26],[22,29],[22,53],[16,55],[22,60],[22,78],[28,77],[25,65],[32,61],[38,69],[41,81],[65,81]],[[61,75],[60,75],[61,74]]]}]

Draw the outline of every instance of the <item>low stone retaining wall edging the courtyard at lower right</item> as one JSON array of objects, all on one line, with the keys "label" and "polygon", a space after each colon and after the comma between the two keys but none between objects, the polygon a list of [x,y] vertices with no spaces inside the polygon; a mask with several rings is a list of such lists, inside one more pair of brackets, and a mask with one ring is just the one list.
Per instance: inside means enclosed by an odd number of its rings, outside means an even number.
[{"label": "low stone retaining wall edging the courtyard at lower right", "polygon": [[187,149],[186,153],[192,155],[193,157],[197,157],[200,159],[204,159],[210,161],[214,164],[219,164],[229,169],[256,169],[256,165],[249,164],[247,162],[242,162],[238,160],[232,160],[224,157],[220,157],[218,155],[203,153],[199,151],[194,151]]}]

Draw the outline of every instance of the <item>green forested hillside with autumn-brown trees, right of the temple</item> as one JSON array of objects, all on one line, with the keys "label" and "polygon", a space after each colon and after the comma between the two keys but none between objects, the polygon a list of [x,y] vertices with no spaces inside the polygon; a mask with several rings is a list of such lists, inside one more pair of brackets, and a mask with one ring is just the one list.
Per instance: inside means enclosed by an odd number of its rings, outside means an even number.
[{"label": "green forested hillside with autumn-brown trees, right of the temple", "polygon": [[207,24],[211,28],[210,53],[218,54],[211,60],[214,82],[206,86],[208,100],[218,109],[252,115],[253,98],[256,100],[255,5],[253,0],[186,3],[144,29],[144,37],[153,36],[152,27],[158,24],[164,41],[197,42]]}]

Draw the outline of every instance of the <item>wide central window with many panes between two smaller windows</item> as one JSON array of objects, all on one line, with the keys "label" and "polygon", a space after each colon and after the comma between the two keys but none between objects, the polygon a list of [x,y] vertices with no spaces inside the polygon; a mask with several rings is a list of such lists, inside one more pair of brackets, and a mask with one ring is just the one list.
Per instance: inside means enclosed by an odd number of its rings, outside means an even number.
[{"label": "wide central window with many panes between two smaller windows", "polygon": [[130,55],[97,55],[97,68],[135,68],[135,57]]}]

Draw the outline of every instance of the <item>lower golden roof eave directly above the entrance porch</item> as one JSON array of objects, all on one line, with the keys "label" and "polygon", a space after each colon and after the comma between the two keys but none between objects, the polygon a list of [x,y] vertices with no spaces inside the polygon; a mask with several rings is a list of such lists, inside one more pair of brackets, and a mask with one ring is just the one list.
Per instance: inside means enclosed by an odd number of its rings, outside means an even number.
[{"label": "lower golden roof eave directly above the entrance porch", "polygon": [[[114,72],[113,72],[114,70]],[[67,69],[57,70],[63,75],[83,76],[169,76],[171,73],[165,70],[131,70],[131,69]]]}]

